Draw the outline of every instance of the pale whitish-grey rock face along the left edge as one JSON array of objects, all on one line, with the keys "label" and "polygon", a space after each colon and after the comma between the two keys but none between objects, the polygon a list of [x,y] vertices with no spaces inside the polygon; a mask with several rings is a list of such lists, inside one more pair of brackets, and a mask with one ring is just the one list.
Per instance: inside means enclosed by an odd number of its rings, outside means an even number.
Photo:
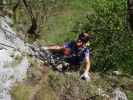
[{"label": "pale whitish-grey rock face along the left edge", "polygon": [[0,16],[0,100],[11,100],[10,89],[22,81],[29,63],[24,41],[10,27],[11,20]]}]

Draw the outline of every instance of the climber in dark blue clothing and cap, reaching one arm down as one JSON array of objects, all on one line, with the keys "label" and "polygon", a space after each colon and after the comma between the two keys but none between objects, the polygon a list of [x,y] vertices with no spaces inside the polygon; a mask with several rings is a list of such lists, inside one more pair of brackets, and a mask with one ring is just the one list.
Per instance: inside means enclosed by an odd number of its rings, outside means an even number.
[{"label": "climber in dark blue clothing and cap, reaching one arm down", "polygon": [[95,39],[95,37],[85,32],[81,33],[76,41],[65,43],[62,46],[47,46],[44,49],[63,50],[65,61],[70,65],[81,65],[84,63],[85,68],[81,78],[89,81],[89,70],[91,66],[90,49],[86,46],[86,43],[91,39]]}]

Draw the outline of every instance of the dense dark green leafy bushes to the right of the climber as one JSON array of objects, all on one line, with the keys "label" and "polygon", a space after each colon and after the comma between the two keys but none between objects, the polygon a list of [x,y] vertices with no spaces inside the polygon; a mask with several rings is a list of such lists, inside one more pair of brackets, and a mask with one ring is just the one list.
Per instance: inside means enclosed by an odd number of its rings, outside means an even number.
[{"label": "dense dark green leafy bushes to the right of the climber", "polygon": [[132,73],[133,57],[127,22],[127,1],[90,0],[93,13],[80,19],[74,32],[93,32],[97,39],[92,44],[93,69],[100,71],[124,70]]}]

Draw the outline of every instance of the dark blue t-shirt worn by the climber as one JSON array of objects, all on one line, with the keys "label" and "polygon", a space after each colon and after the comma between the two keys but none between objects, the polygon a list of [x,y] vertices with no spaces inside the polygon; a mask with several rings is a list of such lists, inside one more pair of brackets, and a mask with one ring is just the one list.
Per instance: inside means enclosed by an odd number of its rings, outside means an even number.
[{"label": "dark blue t-shirt worn by the climber", "polygon": [[71,50],[71,54],[65,57],[65,61],[71,65],[80,65],[85,57],[90,56],[90,49],[88,47],[77,48],[74,41],[65,43],[64,48],[70,48]]}]

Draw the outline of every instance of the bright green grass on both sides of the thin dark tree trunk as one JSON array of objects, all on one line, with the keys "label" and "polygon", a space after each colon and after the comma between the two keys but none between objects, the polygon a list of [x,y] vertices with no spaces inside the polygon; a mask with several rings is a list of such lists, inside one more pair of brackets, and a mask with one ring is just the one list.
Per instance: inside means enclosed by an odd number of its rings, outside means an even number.
[{"label": "bright green grass on both sides of the thin dark tree trunk", "polygon": [[[73,30],[75,23],[84,19],[88,12],[92,12],[91,4],[89,4],[88,0],[70,0],[68,2],[68,5],[62,8],[63,10],[58,9],[56,12],[53,12],[57,14],[48,16],[46,23],[41,25],[39,33],[41,37],[38,39],[38,42],[41,41],[41,44],[63,43],[67,39],[70,40],[71,37],[68,36],[68,33]],[[22,30],[25,32],[31,23],[27,13],[23,9],[18,9],[16,15],[17,29],[19,30],[19,25],[22,24]]]}]

